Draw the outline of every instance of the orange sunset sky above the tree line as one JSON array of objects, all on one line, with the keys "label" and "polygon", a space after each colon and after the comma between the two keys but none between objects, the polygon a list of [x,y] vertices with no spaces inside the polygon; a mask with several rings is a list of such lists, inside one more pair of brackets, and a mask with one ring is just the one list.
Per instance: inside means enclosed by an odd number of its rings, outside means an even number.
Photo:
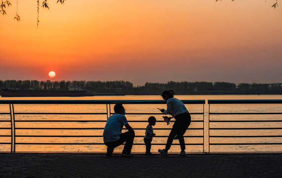
[{"label": "orange sunset sky above the tree line", "polygon": [[0,80],[282,83],[282,0],[42,1],[0,15]]}]

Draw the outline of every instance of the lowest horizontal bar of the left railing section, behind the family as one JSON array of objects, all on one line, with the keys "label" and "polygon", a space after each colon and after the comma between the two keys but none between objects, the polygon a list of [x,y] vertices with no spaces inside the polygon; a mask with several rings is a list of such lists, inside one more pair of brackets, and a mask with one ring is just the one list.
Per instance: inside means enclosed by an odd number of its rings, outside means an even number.
[{"label": "lowest horizontal bar of the left railing section, behind the family", "polygon": [[[105,145],[105,143],[15,143],[15,144],[44,144],[44,145]],[[152,143],[152,145],[165,145],[166,143]],[[133,143],[133,145],[145,145],[145,143]],[[179,143],[172,143],[179,145]],[[185,143],[185,145],[203,145],[203,143]]]}]

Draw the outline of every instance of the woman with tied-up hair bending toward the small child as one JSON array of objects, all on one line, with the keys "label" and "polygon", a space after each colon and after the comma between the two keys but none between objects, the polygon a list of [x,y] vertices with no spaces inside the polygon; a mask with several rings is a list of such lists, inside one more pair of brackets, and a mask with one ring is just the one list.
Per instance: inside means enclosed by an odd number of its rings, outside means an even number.
[{"label": "woman with tied-up hair bending toward the small child", "polygon": [[179,156],[186,156],[183,135],[191,123],[191,116],[183,102],[177,98],[174,98],[173,94],[173,90],[164,90],[161,94],[167,106],[167,109],[161,109],[161,112],[164,114],[170,114],[175,118],[175,122],[167,138],[165,149],[159,149],[159,152],[163,155],[167,155],[167,151],[170,149],[173,138],[177,137],[181,147]]}]

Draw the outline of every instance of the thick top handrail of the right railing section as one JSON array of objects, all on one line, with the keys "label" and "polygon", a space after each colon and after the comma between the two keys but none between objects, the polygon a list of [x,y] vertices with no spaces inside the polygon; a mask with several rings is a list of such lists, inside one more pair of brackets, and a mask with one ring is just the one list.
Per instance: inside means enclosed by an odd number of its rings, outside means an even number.
[{"label": "thick top handrail of the right railing section", "polygon": [[282,99],[228,99],[207,100],[208,104],[282,104]]}]

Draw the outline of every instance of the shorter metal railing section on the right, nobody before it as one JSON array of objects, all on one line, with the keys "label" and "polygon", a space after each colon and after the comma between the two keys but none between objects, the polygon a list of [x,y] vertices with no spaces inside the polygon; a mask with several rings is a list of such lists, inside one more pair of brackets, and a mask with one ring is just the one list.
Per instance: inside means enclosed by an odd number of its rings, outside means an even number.
[{"label": "shorter metal railing section on the right, nobody before it", "polygon": [[[272,99],[272,100],[208,100],[208,152],[210,152],[210,145],[282,145],[282,142],[212,142],[210,143],[210,138],[263,138],[263,137],[282,137],[281,127],[223,127],[226,123],[274,123],[282,122],[281,117],[278,120],[211,120],[212,115],[282,115],[282,112],[210,112],[210,105],[214,104],[282,104],[281,99]],[[281,111],[281,110],[280,110]],[[210,127],[210,123],[219,124],[216,128]],[[210,135],[210,131],[224,131],[224,130],[278,130],[280,134],[272,135],[242,135],[242,132],[236,133],[233,135]],[[247,132],[243,133],[246,134]],[[238,135],[241,134],[241,135]]]}]

